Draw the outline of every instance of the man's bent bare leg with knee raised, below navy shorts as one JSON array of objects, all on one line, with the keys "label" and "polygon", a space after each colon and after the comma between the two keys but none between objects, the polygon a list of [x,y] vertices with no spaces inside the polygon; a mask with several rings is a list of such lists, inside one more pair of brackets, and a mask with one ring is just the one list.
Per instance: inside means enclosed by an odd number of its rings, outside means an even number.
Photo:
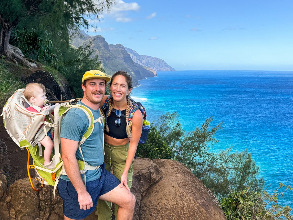
[{"label": "man's bent bare leg with knee raised, below navy shorts", "polygon": [[99,199],[113,202],[119,206],[117,212],[118,220],[132,219],[135,206],[135,197],[128,189],[126,189],[125,186],[121,188],[120,185],[118,185],[110,192],[101,195]]}]

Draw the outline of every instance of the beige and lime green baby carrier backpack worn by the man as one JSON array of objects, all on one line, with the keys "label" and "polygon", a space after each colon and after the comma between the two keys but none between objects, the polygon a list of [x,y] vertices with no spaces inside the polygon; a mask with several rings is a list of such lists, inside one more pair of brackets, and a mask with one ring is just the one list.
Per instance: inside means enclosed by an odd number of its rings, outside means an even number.
[{"label": "beige and lime green baby carrier backpack worn by the man", "polygon": [[[89,127],[79,143],[79,150],[81,151],[81,145],[91,135],[94,125],[99,122],[104,129],[105,118],[103,111],[100,109],[101,117],[94,120],[93,114],[90,109],[81,104],[73,104],[71,102],[76,99],[69,100],[51,106],[49,109],[45,109],[41,112],[31,112],[26,108],[32,106],[34,109],[40,111],[41,108],[31,104],[23,95],[24,89],[18,89],[16,92],[7,100],[3,107],[1,116],[3,116],[4,127],[12,138],[12,140],[23,150],[28,151],[28,177],[30,179],[30,185],[35,191],[40,191],[43,184],[54,186],[55,189],[58,184],[59,176],[61,174],[66,175],[62,161],[62,152],[60,146],[60,128],[61,121],[67,111],[71,108],[79,108],[84,111],[88,117]],[[48,104],[45,104],[45,106]],[[53,110],[54,108],[54,110]],[[54,111],[54,116],[50,112]],[[47,121],[44,120],[47,119]],[[50,131],[53,137],[53,152],[51,154],[51,163],[43,165],[44,157],[42,152],[44,147],[40,145],[39,140],[47,135]],[[29,165],[30,155],[33,158],[33,165]],[[86,161],[79,161],[79,169],[81,174],[85,173],[86,170],[95,170],[99,166],[90,166]],[[35,189],[33,182],[30,177],[29,169],[34,169],[36,180],[39,180],[41,187]]]}]

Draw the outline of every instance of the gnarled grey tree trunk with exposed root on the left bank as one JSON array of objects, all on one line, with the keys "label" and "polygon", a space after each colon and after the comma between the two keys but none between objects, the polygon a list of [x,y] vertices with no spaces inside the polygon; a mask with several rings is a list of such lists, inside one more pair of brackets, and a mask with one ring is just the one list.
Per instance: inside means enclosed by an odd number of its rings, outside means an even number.
[{"label": "gnarled grey tree trunk with exposed root on the left bank", "polygon": [[18,53],[14,52],[9,45],[10,35],[12,30],[16,27],[16,22],[15,24],[6,23],[4,19],[0,16],[0,25],[0,55],[6,56],[6,58],[12,60],[17,64],[19,62],[21,65],[27,66],[31,69],[36,68],[37,65],[35,63],[29,62],[25,58],[21,57]]}]

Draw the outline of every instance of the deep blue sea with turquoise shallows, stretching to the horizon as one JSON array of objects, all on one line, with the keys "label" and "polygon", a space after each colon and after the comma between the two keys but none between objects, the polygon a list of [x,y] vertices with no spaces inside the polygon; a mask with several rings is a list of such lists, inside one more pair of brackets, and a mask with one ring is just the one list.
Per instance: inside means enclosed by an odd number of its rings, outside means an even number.
[{"label": "deep blue sea with turquoise shallows, stretching to the horizon", "polygon": [[[293,187],[293,71],[182,70],[157,72],[139,81],[132,98],[154,121],[177,111],[185,131],[213,116],[223,122],[213,150],[246,148],[260,167],[268,192],[282,182]],[[293,192],[279,201],[293,208]]]}]

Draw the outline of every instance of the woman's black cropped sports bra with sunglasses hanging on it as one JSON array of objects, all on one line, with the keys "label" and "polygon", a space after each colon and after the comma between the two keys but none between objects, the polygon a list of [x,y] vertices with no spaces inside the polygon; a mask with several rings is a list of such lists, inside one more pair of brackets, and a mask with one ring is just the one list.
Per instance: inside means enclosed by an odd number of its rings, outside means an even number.
[{"label": "woman's black cropped sports bra with sunglasses hanging on it", "polygon": [[[104,114],[106,114],[106,111],[108,109],[105,109]],[[126,115],[126,109],[121,111],[121,116],[120,116],[120,126],[116,126],[115,125],[115,120],[117,119],[117,116],[115,114],[116,109],[112,109],[111,115],[108,117],[107,121],[108,121],[108,128],[110,130],[110,132],[107,132],[106,130],[104,130],[104,133],[112,138],[116,138],[116,139],[124,139],[127,138],[127,133],[126,133],[126,119],[123,115]]]}]

